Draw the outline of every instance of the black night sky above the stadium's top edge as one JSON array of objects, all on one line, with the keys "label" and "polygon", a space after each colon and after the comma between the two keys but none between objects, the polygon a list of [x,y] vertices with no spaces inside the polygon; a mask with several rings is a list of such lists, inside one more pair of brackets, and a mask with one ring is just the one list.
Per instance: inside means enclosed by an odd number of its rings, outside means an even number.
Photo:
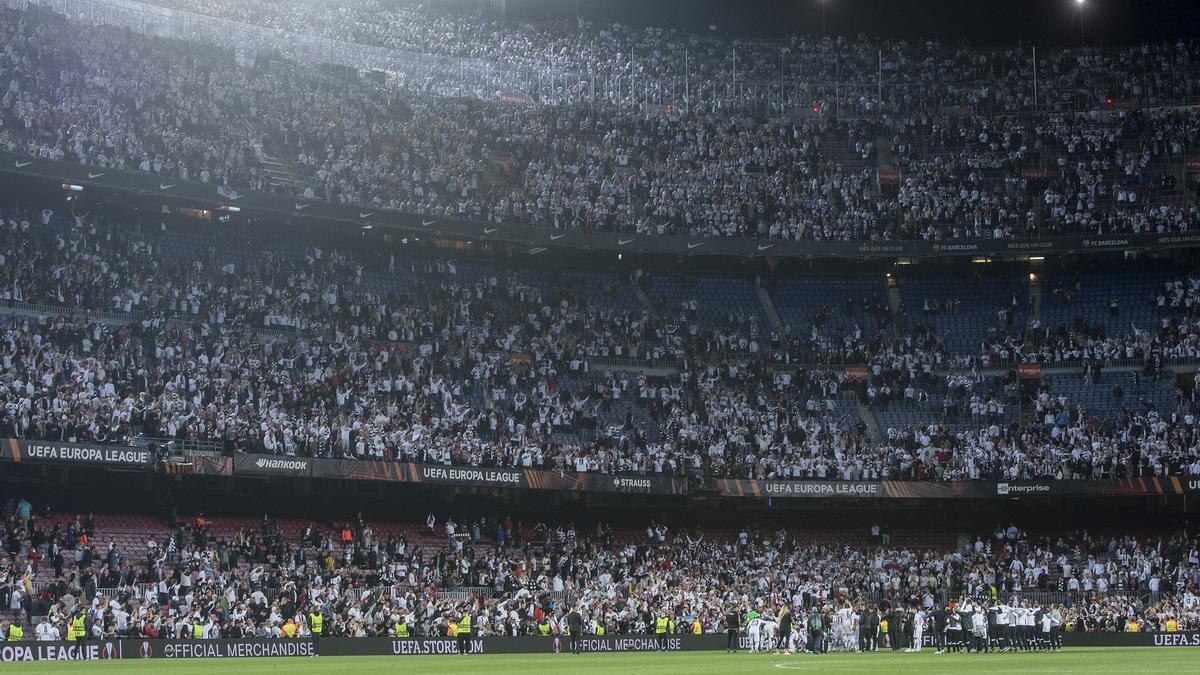
[{"label": "black night sky above the stadium's top edge", "polygon": [[[434,4],[454,0],[432,0]],[[822,0],[508,0],[509,14],[613,18],[724,35],[821,35]],[[1075,0],[824,0],[829,35],[968,41],[973,44],[1079,44]],[[1087,43],[1200,37],[1200,0],[1086,0]]]}]

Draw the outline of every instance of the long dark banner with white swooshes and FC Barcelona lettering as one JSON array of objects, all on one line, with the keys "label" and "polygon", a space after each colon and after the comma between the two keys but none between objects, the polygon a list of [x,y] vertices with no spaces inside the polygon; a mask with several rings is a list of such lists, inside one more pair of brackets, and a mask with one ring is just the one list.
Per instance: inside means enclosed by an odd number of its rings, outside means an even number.
[{"label": "long dark banner with white swooshes and FC Barcelona lettering", "polygon": [[[1200,233],[1122,234],[1108,238],[1093,235],[1046,237],[1038,239],[948,239],[941,241],[791,241],[784,239],[708,239],[688,234],[646,235],[625,232],[570,232],[529,227],[522,223],[493,223],[388,210],[366,210],[350,204],[296,199],[289,195],[241,192],[212,184],[156,174],[106,169],[73,162],[60,162],[22,153],[0,153],[0,173],[70,181],[85,190],[124,192],[131,197],[155,198],[179,207],[214,209],[235,202],[238,208],[257,217],[304,217],[312,223],[324,221],[336,232],[359,232],[371,225],[430,238],[486,240],[529,247],[581,249],[610,252],[667,253],[679,256],[744,257],[830,257],[894,258],[932,256],[1002,256],[1074,253],[1094,250],[1152,250],[1200,246]],[[1195,173],[1195,172],[1193,172]]]}]

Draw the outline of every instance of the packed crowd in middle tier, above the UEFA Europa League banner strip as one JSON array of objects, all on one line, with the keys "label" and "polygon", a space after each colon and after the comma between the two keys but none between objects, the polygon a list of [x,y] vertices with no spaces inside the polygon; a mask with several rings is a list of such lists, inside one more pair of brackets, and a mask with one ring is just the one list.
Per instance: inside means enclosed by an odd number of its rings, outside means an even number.
[{"label": "packed crowd in middle tier, above the UEFA Europa League banner strip", "polygon": [[[822,307],[811,330],[780,335],[754,312],[701,317],[695,300],[628,309],[569,273],[49,210],[10,211],[0,234],[0,299],[120,317],[5,321],[5,437],[745,478],[1200,474],[1194,390],[1099,411],[1048,388],[1020,425],[1014,381],[883,307]],[[1177,353],[1138,340],[1135,358]],[[677,366],[592,368],[623,358]],[[856,399],[908,417],[872,440]]]}]

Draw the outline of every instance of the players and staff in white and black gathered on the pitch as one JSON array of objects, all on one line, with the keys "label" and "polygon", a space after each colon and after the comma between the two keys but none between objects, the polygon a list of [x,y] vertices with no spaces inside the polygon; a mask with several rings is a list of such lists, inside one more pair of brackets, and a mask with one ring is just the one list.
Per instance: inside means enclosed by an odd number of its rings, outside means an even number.
[{"label": "players and staff in white and black gathered on the pitch", "polygon": [[749,609],[726,615],[727,649],[737,649],[736,635],[744,627],[750,652],[776,650],[781,653],[824,653],[829,651],[919,652],[932,646],[943,652],[1055,651],[1062,647],[1064,610],[1030,602],[1004,604],[964,598],[946,608],[930,610],[887,609],[847,604],[836,611],[828,605],[793,616],[791,608],[778,613]]}]

